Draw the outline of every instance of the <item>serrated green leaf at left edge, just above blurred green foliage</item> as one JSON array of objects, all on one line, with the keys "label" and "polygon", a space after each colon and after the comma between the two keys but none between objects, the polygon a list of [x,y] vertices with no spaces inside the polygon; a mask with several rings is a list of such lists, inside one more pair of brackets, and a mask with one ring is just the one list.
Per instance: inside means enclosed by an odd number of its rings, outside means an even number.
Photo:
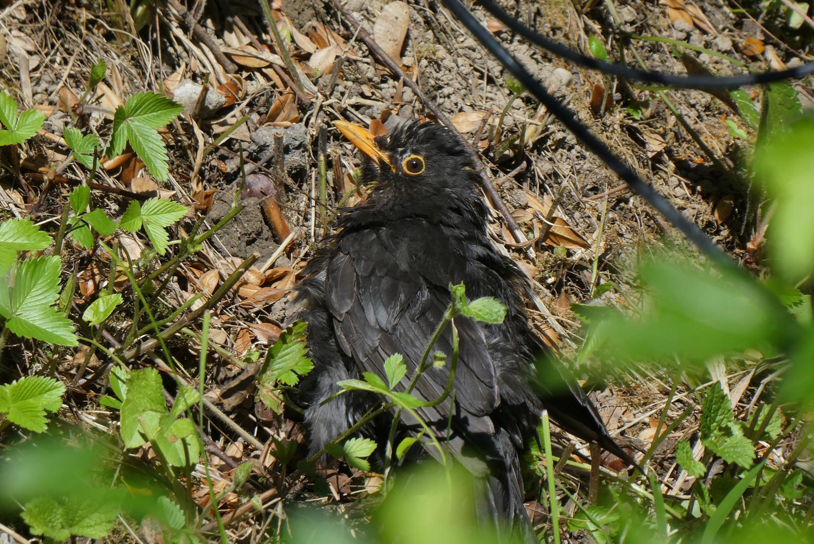
[{"label": "serrated green leaf at left edge, just above blurred green foliage", "polygon": [[46,411],[62,406],[65,386],[46,376],[26,376],[0,385],[0,414],[11,423],[34,432],[46,430]]}]

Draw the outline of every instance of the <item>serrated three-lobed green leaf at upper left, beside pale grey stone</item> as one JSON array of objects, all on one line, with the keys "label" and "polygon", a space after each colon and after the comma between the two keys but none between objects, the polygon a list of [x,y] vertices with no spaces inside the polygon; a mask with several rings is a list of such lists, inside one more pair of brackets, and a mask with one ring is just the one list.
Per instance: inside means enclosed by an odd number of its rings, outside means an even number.
[{"label": "serrated three-lobed green leaf at upper left, beside pale grey stone", "polygon": [[167,148],[158,130],[173,121],[183,107],[155,93],[133,94],[124,106],[116,107],[108,156],[120,155],[130,143],[136,155],[159,181],[167,179]]}]

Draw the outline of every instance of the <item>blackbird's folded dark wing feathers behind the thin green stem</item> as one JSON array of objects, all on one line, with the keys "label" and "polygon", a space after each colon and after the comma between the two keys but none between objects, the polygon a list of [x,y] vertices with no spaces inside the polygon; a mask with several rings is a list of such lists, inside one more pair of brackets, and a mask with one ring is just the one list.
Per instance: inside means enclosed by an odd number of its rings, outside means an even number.
[{"label": "blackbird's folded dark wing feathers behind the thin green stem", "polygon": [[[396,390],[403,391],[450,301],[449,285],[428,277],[439,275],[454,281],[450,271],[462,270],[466,260],[442,236],[415,240],[409,232],[389,229],[349,233],[340,239],[337,249],[326,274],[326,303],[334,318],[337,343],[361,371],[382,377],[385,359],[400,353],[408,373]],[[425,263],[432,268],[425,268]],[[455,325],[460,338],[453,383],[456,406],[447,399],[420,411],[428,422],[445,428],[452,409],[460,432],[493,433],[491,420],[484,416],[495,409],[499,397],[484,331],[470,318],[456,318]],[[449,379],[449,327],[433,351],[445,353],[448,359],[443,367],[431,367],[418,379],[413,393],[426,401],[440,397]]]}]

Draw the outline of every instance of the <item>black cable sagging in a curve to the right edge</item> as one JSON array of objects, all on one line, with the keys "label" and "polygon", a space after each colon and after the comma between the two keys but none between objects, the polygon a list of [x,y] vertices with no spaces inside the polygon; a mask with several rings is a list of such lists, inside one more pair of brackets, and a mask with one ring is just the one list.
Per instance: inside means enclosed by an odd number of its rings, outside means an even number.
[{"label": "black cable sagging in a curve to the right edge", "polygon": [[[568,59],[572,63],[578,64],[584,68],[598,70],[599,72],[604,72],[612,76],[618,76],[628,80],[644,81],[647,83],[656,83],[663,86],[680,87],[683,89],[708,90],[733,89],[744,85],[773,83],[775,81],[804,77],[814,73],[814,63],[801,64],[800,66],[777,72],[744,74],[742,76],[731,77],[676,76],[674,74],[664,72],[646,72],[644,70],[638,70],[637,68],[628,68],[622,64],[609,63],[604,60],[583,55],[579,51],[573,50],[568,46],[564,46],[562,43],[554,42],[554,40],[551,40],[548,37],[529,29],[525,24],[503,11],[501,7],[497,6],[497,4],[492,2],[492,0],[478,1],[484,8],[486,8],[487,11],[497,17],[497,20],[500,20],[501,23],[505,24],[509,29],[513,30],[515,33],[518,33],[520,36],[523,36],[536,46],[540,46],[543,49],[554,53],[554,55],[562,57],[563,59]],[[475,29],[470,29],[470,32],[474,33],[476,36],[478,33],[481,35],[488,34],[487,29],[483,29],[477,33],[475,32]],[[483,42],[483,40],[481,40],[481,42]]]}]

